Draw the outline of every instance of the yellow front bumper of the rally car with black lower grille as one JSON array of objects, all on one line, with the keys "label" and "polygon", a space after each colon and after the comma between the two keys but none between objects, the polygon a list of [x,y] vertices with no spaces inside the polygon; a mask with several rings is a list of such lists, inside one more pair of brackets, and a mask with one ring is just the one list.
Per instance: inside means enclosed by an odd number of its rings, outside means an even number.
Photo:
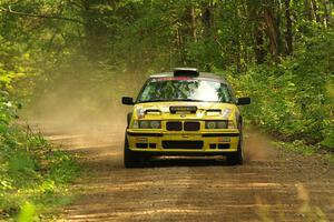
[{"label": "yellow front bumper of the rally car with black lower grille", "polygon": [[127,130],[129,150],[154,154],[210,155],[236,152],[239,131],[166,132]]}]

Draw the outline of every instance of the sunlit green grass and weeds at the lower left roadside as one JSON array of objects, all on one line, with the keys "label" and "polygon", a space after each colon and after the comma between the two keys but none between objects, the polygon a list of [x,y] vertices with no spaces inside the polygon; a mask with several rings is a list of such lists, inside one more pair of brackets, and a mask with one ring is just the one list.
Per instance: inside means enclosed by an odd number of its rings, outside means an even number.
[{"label": "sunlit green grass and weeds at the lower left roadside", "polygon": [[0,220],[43,221],[73,194],[75,157],[29,129],[0,129]]}]

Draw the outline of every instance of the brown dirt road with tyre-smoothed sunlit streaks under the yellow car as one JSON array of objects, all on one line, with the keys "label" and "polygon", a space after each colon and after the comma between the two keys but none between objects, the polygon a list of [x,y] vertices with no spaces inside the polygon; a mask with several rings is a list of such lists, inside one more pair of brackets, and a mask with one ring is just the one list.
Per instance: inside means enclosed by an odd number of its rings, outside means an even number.
[{"label": "brown dirt road with tyre-smoothed sunlit streaks under the yellow car", "polygon": [[105,128],[45,133],[87,170],[76,183],[84,195],[59,221],[334,221],[333,167],[272,148],[256,133],[248,133],[242,167],[174,158],[144,169],[122,167],[124,135]]}]

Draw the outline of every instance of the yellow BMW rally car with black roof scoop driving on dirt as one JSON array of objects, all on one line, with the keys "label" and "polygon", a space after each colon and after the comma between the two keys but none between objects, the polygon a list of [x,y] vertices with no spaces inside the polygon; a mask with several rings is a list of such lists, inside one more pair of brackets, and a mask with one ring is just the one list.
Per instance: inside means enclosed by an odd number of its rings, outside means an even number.
[{"label": "yellow BMW rally car with black roof scoop driving on dirt", "polygon": [[153,155],[226,155],[242,164],[243,118],[228,82],[197,69],[179,68],[151,75],[138,98],[124,97],[134,105],[128,114],[124,164],[140,167]]}]

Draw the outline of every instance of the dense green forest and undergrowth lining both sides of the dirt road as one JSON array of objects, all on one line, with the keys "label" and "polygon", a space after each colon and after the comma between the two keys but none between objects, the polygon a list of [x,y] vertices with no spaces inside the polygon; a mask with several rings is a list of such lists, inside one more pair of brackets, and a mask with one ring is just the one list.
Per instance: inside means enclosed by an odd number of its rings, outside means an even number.
[{"label": "dense green forest and undergrowth lining both sides of the dirt road", "polygon": [[249,95],[243,109],[249,128],[334,152],[333,7],[333,0],[1,0],[0,219],[24,221],[62,204],[79,175],[73,158],[27,128],[26,118],[102,120],[145,77],[175,67],[218,73]]}]

